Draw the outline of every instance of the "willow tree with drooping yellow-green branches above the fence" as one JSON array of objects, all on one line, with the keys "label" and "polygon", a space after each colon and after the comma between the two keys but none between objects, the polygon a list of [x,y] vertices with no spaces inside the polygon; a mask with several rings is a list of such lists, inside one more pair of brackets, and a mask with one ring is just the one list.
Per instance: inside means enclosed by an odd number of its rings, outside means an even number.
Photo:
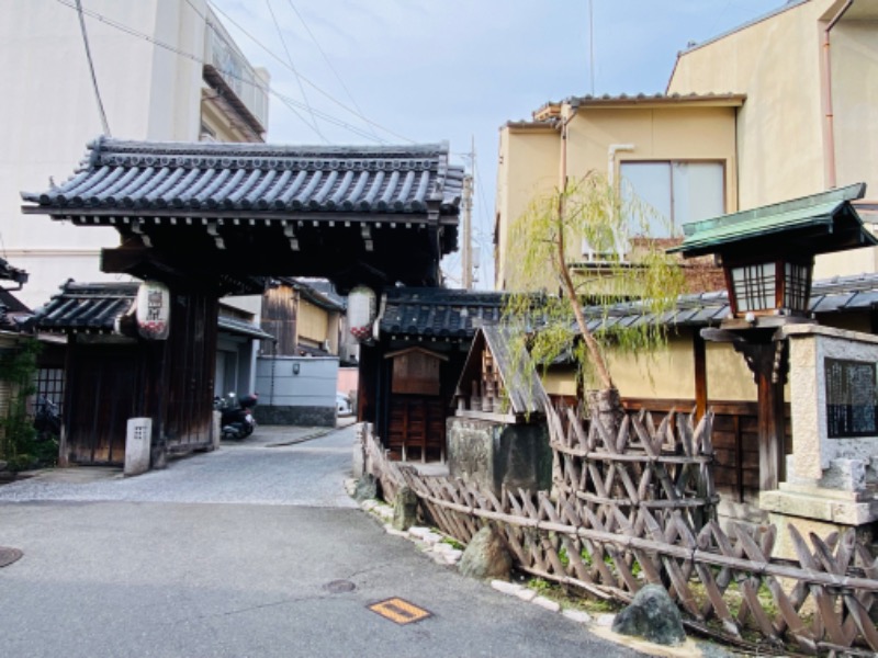
[{"label": "willow tree with drooping yellow-green branches above the fence", "polygon": [[[642,352],[667,339],[660,322],[618,327],[606,321],[610,307],[623,302],[651,317],[674,307],[684,277],[664,251],[667,240],[649,237],[661,222],[646,204],[621,195],[593,171],[564,190],[536,196],[510,227],[511,292],[504,320],[543,371],[565,353],[573,356],[577,376],[593,389],[587,400],[593,412],[618,418],[621,411],[608,348]],[[581,249],[586,243],[600,254],[587,265]],[[534,294],[536,286],[542,292]],[[595,319],[600,321],[593,331],[589,321]]]}]

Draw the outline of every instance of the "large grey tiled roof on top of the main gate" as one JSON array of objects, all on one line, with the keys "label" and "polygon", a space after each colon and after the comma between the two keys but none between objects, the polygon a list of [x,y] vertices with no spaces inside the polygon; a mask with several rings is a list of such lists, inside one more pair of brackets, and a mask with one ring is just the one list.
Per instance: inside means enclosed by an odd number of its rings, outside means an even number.
[{"label": "large grey tiled roof on top of the main gate", "polygon": [[447,144],[302,147],[100,137],[40,206],[457,214],[463,168]]}]

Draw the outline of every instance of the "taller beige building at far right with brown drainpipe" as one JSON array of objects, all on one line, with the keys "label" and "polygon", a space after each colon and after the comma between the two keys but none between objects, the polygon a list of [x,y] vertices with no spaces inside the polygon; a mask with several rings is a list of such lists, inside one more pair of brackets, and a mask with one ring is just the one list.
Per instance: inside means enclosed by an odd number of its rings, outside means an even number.
[{"label": "taller beige building at far right with brown drainpipe", "polygon": [[[857,182],[878,200],[878,2],[795,0],[680,53],[667,93],[710,92],[746,97],[735,121],[741,209]],[[824,256],[814,276],[875,272],[876,259],[875,249]]]}]

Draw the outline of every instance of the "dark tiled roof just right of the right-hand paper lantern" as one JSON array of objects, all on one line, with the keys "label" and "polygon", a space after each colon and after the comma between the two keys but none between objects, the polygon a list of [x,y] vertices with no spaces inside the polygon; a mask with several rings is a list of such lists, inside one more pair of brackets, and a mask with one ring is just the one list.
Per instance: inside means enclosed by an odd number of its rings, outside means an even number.
[{"label": "dark tiled roof just right of the right-hand paper lantern", "polygon": [[396,338],[470,340],[483,325],[499,321],[502,305],[502,293],[390,288],[382,304],[380,330]]}]

